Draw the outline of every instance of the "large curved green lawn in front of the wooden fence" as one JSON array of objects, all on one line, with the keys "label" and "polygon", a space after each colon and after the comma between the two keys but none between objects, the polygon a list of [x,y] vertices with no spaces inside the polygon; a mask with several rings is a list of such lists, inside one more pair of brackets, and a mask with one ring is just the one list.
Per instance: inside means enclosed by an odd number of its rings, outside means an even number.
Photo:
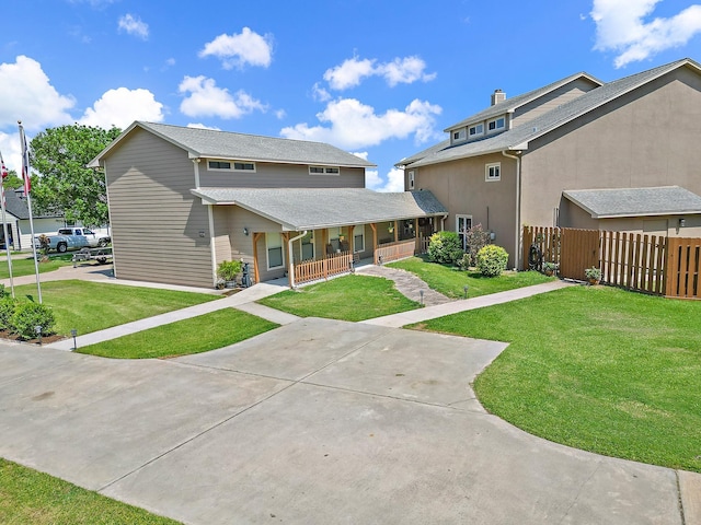
[{"label": "large curved green lawn in front of the wooden fence", "polygon": [[701,303],[573,287],[420,326],[510,342],[484,407],[565,445],[701,472]]}]

